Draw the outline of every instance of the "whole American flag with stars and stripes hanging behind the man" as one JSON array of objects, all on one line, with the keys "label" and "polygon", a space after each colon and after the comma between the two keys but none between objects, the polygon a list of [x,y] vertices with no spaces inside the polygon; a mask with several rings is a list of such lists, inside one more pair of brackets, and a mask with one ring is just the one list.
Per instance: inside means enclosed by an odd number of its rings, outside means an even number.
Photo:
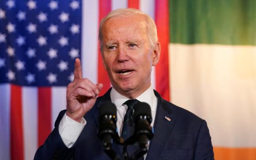
[{"label": "whole American flag with stars and stripes hanging behind the man", "polygon": [[160,20],[168,23],[167,0],[0,0],[0,160],[33,159],[66,107],[75,58],[83,77],[103,83],[101,95],[109,89],[98,25],[109,11],[127,7],[149,14],[164,35],[152,85],[169,100],[169,27]]}]

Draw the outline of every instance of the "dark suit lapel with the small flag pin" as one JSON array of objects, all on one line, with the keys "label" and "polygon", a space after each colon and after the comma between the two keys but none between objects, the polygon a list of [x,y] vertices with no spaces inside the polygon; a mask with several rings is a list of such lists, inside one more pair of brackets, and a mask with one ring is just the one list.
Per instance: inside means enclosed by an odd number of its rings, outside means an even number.
[{"label": "dark suit lapel with the small flag pin", "polygon": [[[157,159],[175,123],[175,118],[171,115],[171,108],[167,106],[166,101],[164,101],[156,91],[155,95],[157,96],[157,110],[154,123],[155,134],[154,138],[150,141],[147,154],[147,159],[150,158],[150,160]],[[171,121],[168,121],[165,116],[171,118]]]}]

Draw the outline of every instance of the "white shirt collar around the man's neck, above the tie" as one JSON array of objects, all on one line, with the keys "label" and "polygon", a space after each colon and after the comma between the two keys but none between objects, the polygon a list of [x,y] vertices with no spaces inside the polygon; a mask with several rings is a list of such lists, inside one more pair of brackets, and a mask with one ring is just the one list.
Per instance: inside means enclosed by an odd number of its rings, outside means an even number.
[{"label": "white shirt collar around the man's neck, above the tie", "polygon": [[[118,93],[113,87],[110,92],[110,98],[111,101],[117,106],[117,109],[121,107],[125,101],[129,100],[129,98]],[[150,85],[149,88],[146,91],[144,91],[141,95],[139,95],[136,99],[141,102],[148,103],[152,112],[156,111],[156,106],[154,105],[154,102],[156,101],[156,96],[152,88],[152,85]]]}]

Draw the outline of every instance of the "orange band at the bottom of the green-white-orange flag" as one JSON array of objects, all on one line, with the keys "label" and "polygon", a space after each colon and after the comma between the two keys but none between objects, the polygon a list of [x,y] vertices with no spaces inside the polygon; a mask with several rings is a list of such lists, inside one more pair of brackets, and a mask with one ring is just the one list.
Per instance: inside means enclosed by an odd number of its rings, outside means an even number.
[{"label": "orange band at the bottom of the green-white-orange flag", "polygon": [[215,160],[256,160],[256,148],[213,147]]}]

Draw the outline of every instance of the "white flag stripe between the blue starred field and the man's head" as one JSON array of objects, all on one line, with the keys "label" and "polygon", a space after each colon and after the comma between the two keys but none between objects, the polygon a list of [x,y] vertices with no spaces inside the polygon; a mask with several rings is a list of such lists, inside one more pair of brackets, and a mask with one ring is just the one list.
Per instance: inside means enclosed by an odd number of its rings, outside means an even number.
[{"label": "white flag stripe between the blue starred field and the man's head", "polygon": [[83,77],[97,83],[98,74],[98,0],[84,0],[82,11],[81,62]]}]

